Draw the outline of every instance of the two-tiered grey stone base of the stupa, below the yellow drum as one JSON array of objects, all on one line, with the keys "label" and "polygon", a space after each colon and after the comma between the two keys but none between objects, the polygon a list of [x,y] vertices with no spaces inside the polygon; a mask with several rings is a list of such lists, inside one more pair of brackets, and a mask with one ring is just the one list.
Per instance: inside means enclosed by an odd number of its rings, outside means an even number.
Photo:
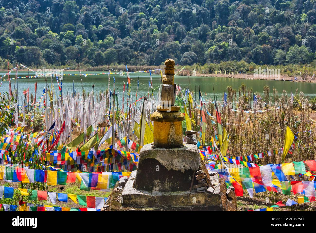
[{"label": "two-tiered grey stone base of the stupa, below the yellow drum", "polygon": [[121,204],[133,209],[236,211],[235,193],[228,198],[225,181],[218,179],[217,174],[209,176],[214,186],[212,193],[190,191],[193,173],[200,169],[196,145],[184,143],[184,148],[153,149],[147,144],[140,152],[137,171],[125,184]]}]

